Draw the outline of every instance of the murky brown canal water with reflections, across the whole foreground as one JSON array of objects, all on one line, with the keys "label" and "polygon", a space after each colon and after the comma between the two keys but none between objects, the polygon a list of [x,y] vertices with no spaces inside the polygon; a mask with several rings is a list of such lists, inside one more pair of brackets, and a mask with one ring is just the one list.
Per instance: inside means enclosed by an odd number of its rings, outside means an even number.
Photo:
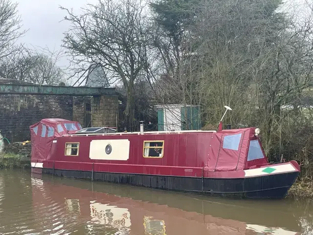
[{"label": "murky brown canal water with reflections, across the whole foreground", "polygon": [[0,170],[0,235],[313,235],[313,204],[213,199]]}]

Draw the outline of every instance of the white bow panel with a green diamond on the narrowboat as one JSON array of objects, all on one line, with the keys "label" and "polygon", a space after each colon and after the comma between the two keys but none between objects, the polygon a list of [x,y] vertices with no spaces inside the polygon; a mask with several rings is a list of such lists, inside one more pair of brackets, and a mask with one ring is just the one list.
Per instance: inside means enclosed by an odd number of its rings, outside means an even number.
[{"label": "white bow panel with a green diamond on the narrowboat", "polygon": [[260,168],[245,170],[245,177],[288,173],[293,171],[297,171],[297,169],[291,163],[283,165],[268,165]]}]

